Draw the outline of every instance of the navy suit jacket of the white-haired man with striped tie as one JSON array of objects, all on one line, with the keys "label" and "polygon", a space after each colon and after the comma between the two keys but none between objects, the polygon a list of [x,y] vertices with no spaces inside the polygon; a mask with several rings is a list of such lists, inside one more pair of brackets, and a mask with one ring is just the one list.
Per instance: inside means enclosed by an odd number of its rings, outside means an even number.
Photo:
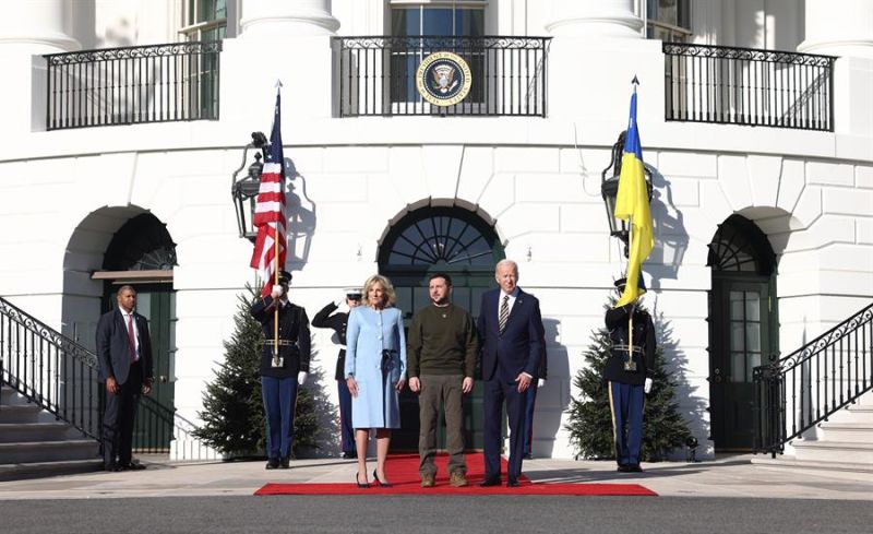
[{"label": "navy suit jacket of the white-haired man with striped tie", "polygon": [[479,307],[477,328],[482,351],[482,380],[494,378],[498,369],[498,378],[504,382],[515,381],[523,371],[536,379],[546,337],[539,300],[519,288],[502,334],[498,324],[499,300],[500,288],[491,289],[482,295]]}]

